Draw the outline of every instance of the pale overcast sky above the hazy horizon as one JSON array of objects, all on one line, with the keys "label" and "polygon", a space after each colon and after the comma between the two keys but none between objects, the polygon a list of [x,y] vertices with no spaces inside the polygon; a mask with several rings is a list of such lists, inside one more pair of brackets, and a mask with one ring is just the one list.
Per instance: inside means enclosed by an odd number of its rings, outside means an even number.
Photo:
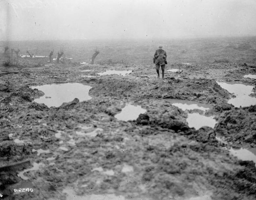
[{"label": "pale overcast sky above the hazy horizon", "polygon": [[256,35],[255,0],[0,0],[0,40]]}]

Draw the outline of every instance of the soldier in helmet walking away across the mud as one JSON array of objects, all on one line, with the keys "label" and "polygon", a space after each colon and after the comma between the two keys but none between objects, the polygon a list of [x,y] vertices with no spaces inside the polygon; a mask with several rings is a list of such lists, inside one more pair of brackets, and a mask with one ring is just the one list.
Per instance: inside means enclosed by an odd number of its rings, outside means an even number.
[{"label": "soldier in helmet walking away across the mud", "polygon": [[154,55],[154,58],[156,59],[155,64],[156,64],[158,78],[160,77],[160,75],[159,75],[160,66],[161,66],[161,69],[162,69],[162,78],[164,78],[165,61],[166,61],[166,58],[167,58],[166,51],[163,50],[162,48],[163,48],[163,46],[159,45],[158,49],[156,50],[156,53]]}]

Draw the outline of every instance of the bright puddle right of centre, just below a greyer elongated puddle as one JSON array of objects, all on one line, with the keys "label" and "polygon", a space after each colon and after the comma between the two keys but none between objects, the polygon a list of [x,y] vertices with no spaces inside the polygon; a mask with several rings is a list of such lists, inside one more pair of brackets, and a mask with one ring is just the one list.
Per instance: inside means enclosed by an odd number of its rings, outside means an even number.
[{"label": "bright puddle right of centre, just below a greyer elongated puddle", "polygon": [[211,116],[206,117],[198,113],[188,113],[187,123],[190,128],[194,127],[196,130],[200,129],[203,126],[209,126],[214,128],[217,121]]}]

